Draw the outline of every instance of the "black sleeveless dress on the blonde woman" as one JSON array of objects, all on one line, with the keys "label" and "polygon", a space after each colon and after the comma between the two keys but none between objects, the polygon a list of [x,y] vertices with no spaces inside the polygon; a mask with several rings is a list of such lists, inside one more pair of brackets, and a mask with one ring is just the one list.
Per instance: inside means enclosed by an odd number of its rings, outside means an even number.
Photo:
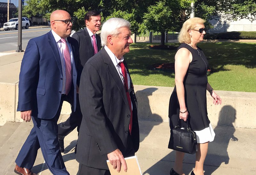
[{"label": "black sleeveless dress on the blonde woman", "polygon": [[[178,50],[182,47],[187,48],[192,54],[192,62],[189,64],[183,82],[185,104],[188,108],[188,120],[194,131],[201,131],[208,128],[210,124],[206,107],[206,86],[208,82],[206,72],[208,61],[199,47],[196,50],[188,44],[182,43]],[[174,128],[179,120],[179,109],[180,105],[175,86],[169,103],[170,128]],[[183,120],[181,122],[181,126],[183,126]]]}]

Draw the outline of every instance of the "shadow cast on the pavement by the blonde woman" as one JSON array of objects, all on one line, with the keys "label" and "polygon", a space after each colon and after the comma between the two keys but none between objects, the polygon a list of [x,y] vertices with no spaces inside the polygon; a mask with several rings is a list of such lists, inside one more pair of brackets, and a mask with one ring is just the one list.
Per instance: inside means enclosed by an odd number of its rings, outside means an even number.
[{"label": "shadow cast on the pavement by the blonde woman", "polygon": [[[229,115],[227,115],[229,114]],[[230,117],[227,117],[230,116]],[[235,128],[233,122],[236,120],[236,110],[232,106],[223,106],[219,113],[218,125],[214,128],[215,139],[209,143],[208,154],[204,161],[204,175],[210,175],[216,171],[220,165],[224,162],[228,164],[228,144],[229,141],[238,141],[238,138],[234,136]],[[223,127],[227,126],[227,127]],[[166,131],[166,132],[169,132]],[[166,138],[169,139],[169,138]],[[159,148],[160,149],[160,148]],[[167,146],[166,148],[168,149]],[[175,162],[175,151],[170,150],[168,155],[158,161],[156,164],[151,166],[143,174],[148,173],[149,175],[169,175],[170,169],[174,166]],[[195,167],[195,156],[185,154],[183,160],[183,171],[185,174],[189,174]]]}]

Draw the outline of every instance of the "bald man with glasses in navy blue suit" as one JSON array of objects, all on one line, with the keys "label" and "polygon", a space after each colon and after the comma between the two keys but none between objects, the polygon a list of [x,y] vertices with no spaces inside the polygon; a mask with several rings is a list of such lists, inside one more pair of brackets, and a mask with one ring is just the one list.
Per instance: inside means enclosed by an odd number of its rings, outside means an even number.
[{"label": "bald man with glasses in navy blue suit", "polygon": [[29,40],[20,68],[17,111],[23,120],[33,120],[14,172],[33,175],[37,150],[41,148],[52,174],[68,175],[58,143],[58,125],[63,101],[76,110],[76,93],[81,74],[78,43],[69,37],[72,19],[67,11],[51,14],[49,33]]}]

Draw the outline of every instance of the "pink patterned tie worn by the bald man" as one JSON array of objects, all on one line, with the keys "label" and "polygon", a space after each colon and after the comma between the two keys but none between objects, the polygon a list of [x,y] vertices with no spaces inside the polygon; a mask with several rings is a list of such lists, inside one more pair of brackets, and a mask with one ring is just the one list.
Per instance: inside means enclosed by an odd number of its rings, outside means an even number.
[{"label": "pink patterned tie worn by the bald man", "polygon": [[66,72],[66,95],[71,89],[71,81],[72,81],[72,72],[71,72],[71,60],[70,60],[70,53],[68,50],[67,41],[64,38],[60,39],[62,43],[64,43],[64,47],[62,45],[64,59],[65,59],[65,72]]}]

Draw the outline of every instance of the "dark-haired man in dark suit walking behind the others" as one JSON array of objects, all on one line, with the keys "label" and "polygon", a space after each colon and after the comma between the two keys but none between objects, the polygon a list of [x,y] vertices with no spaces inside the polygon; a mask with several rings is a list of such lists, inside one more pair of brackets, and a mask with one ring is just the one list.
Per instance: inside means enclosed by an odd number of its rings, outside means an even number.
[{"label": "dark-haired man in dark suit walking behind the others", "polygon": [[[93,55],[100,51],[100,36],[96,34],[100,30],[101,16],[98,11],[89,11],[84,16],[85,28],[82,31],[76,32],[72,35],[78,41],[79,55],[82,66],[91,58]],[[96,43],[94,43],[96,42]],[[93,44],[94,43],[94,44]],[[82,113],[80,110],[79,97],[77,94],[77,108],[75,113],[71,113],[70,117],[60,123],[59,127],[59,143],[60,152],[64,152],[64,138],[71,131],[77,127],[77,132],[79,133],[79,128],[82,120]],[[75,147],[76,153],[76,147]]]}]

